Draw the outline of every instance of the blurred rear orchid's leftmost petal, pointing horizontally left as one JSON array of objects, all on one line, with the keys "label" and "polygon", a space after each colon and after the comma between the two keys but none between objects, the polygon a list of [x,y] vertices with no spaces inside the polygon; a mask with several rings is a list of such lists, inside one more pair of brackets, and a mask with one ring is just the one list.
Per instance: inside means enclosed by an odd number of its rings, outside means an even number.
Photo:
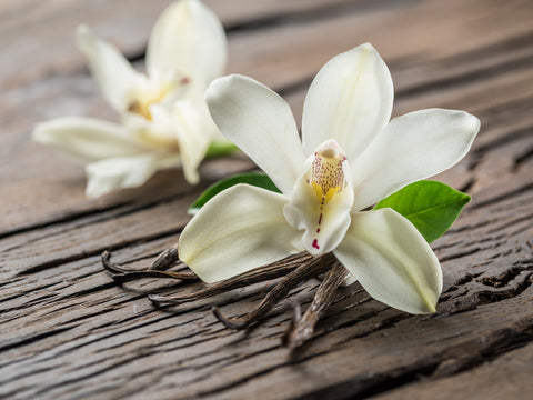
[{"label": "blurred rear orchid's leftmost petal, pointing horizontally left", "polygon": [[64,117],[36,126],[32,139],[81,162],[139,154],[145,147],[122,127],[82,117]]}]

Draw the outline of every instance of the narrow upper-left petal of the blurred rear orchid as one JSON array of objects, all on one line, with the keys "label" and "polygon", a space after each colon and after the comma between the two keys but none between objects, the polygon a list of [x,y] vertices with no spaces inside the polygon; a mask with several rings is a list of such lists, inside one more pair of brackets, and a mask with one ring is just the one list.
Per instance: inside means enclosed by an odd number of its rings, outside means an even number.
[{"label": "narrow upper-left petal of the blurred rear orchid", "polygon": [[143,77],[117,48],[99,39],[86,26],[78,27],[77,42],[105,100],[117,111],[125,112],[131,92]]}]

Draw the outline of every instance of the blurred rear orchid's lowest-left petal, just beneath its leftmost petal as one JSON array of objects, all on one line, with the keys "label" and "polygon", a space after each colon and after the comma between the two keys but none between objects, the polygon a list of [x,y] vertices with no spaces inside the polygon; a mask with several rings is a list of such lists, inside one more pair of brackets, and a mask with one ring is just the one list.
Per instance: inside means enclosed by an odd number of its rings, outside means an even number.
[{"label": "blurred rear orchid's lowest-left petal, just beneath its leftmost petal", "polygon": [[140,187],[169,161],[170,158],[161,159],[158,154],[148,153],[92,162],[86,167],[86,194],[95,198],[118,189]]}]

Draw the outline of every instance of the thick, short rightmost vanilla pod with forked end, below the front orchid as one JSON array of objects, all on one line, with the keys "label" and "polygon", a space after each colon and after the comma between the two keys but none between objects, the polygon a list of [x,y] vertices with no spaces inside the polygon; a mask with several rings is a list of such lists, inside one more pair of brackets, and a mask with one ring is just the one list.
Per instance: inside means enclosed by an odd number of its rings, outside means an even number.
[{"label": "thick, short rightmost vanilla pod with forked end, below the front orchid", "polygon": [[283,336],[283,344],[294,349],[313,336],[314,326],[322,317],[325,308],[331,303],[336,288],[348,277],[348,270],[336,261],[333,268],[325,274],[324,280],[320,284],[314,294],[313,302],[301,317],[300,306],[294,308],[291,326]]}]

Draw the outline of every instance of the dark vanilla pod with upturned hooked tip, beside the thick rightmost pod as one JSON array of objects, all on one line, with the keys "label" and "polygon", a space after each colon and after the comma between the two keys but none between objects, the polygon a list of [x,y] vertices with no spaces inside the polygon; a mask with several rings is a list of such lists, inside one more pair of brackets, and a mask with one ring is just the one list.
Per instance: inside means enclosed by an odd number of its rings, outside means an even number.
[{"label": "dark vanilla pod with upturned hooked tip, beside the thick rightmost pod", "polygon": [[264,318],[280,300],[289,294],[292,289],[312,277],[326,272],[335,262],[338,262],[336,258],[332,253],[326,253],[300,266],[289,274],[284,276],[266,294],[263,301],[261,301],[261,303],[245,317],[229,319],[222,314],[218,307],[212,308],[213,313],[220,322],[230,329],[245,329],[250,324]]}]

